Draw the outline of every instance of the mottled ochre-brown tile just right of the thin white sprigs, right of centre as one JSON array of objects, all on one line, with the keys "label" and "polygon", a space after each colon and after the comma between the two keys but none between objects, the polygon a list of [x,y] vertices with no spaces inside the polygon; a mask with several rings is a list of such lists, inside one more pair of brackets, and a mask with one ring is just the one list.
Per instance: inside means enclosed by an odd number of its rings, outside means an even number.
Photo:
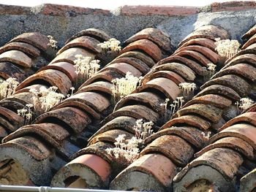
[{"label": "mottled ochre-brown tile just right of the thin white sprigs, right of centre", "polygon": [[173,118],[189,115],[191,113],[200,115],[212,123],[218,123],[219,119],[222,117],[222,110],[218,107],[214,107],[211,104],[192,104],[178,110]]}]

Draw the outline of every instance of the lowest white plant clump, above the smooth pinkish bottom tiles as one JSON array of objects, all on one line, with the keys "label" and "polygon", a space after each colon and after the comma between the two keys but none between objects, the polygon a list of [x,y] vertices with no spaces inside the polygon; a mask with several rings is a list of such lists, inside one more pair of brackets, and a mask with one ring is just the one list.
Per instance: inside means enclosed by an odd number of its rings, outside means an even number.
[{"label": "lowest white plant clump, above the smooth pinkish bottom tiles", "polygon": [[131,139],[125,139],[125,134],[118,135],[116,138],[115,147],[106,149],[109,155],[116,158],[118,164],[121,166],[128,166],[132,164],[139,157],[140,146],[143,145],[144,140],[153,134],[152,126],[153,122],[145,122],[143,120],[137,120],[135,130],[135,137]]}]

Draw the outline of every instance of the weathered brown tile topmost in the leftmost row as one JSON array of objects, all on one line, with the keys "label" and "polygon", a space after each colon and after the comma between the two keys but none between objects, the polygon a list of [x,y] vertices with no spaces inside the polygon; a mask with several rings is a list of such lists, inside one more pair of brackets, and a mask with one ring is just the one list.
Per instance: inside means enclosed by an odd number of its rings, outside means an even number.
[{"label": "weathered brown tile topmost in the leftmost row", "polygon": [[45,35],[38,32],[30,32],[20,34],[10,42],[26,42],[39,48],[39,50],[45,51],[48,48],[49,39]]}]

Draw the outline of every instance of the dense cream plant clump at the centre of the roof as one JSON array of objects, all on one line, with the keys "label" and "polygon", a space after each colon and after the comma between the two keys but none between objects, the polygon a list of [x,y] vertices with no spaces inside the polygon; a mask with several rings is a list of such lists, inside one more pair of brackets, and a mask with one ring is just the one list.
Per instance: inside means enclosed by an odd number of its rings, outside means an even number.
[{"label": "dense cream plant clump at the centre of the roof", "polygon": [[130,93],[132,93],[132,91],[135,91],[141,78],[142,77],[133,76],[131,72],[127,72],[125,77],[112,80],[113,102],[116,104],[116,102],[119,101],[121,98],[129,95]]}]

